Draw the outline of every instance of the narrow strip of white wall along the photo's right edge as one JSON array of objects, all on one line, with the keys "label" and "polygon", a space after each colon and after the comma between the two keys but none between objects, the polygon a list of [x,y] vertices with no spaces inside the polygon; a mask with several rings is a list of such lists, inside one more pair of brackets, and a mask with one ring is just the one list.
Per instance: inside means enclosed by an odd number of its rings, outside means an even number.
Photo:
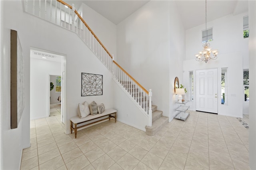
[{"label": "narrow strip of white wall along the photo's right edge", "polygon": [[256,169],[256,2],[249,1],[249,28],[250,28],[250,36],[249,36],[249,76],[250,76],[250,136],[249,136],[249,144],[250,144],[250,152],[249,152],[249,160],[250,160],[250,168],[252,170]]}]

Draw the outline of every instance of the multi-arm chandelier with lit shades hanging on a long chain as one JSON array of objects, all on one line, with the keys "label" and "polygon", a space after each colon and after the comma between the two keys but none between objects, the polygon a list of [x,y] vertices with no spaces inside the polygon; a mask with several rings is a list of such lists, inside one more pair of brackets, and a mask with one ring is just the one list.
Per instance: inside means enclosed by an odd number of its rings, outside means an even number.
[{"label": "multi-arm chandelier with lit shades hanging on a long chain", "polygon": [[199,51],[198,54],[196,54],[196,61],[204,61],[205,63],[207,63],[207,61],[211,60],[211,59],[217,59],[217,55],[218,55],[218,49],[214,49],[212,50],[212,48],[210,47],[210,43],[208,43],[208,32],[207,32],[207,26],[206,26],[206,0],[205,0],[205,31],[206,31],[206,41],[205,44],[203,44],[203,50]]}]

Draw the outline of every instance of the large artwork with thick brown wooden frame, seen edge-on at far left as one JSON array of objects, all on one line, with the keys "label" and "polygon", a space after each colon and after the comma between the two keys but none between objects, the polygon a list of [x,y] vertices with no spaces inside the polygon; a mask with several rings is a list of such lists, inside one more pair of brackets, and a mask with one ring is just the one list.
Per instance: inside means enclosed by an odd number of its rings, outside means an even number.
[{"label": "large artwork with thick brown wooden frame, seen edge-on at far left", "polygon": [[17,128],[25,107],[24,58],[18,33],[11,30],[11,129]]}]

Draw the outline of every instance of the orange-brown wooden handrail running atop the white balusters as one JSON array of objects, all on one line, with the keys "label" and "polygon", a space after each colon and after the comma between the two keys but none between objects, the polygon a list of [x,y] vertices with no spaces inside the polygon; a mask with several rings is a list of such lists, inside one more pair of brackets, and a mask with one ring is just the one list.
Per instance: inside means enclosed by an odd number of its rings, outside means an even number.
[{"label": "orange-brown wooden handrail running atop the white balusters", "polygon": [[[72,9],[72,6],[70,6],[69,4],[67,4],[66,2],[62,1],[62,0],[57,0],[58,2],[62,3],[63,5],[68,6],[68,8]],[[96,38],[96,40],[100,43],[100,45],[104,48],[104,50],[108,53],[108,55],[113,59],[112,55],[110,54],[110,52],[108,52],[108,50],[106,49],[106,47],[100,42],[100,40],[98,39],[98,37],[94,34],[94,32],[91,30],[91,28],[86,24],[86,22],[84,21],[84,19],[80,16],[80,14],[75,10],[76,15],[78,16],[78,18],[80,18],[80,20],[84,23],[84,25],[88,28],[88,30],[92,33],[92,35]],[[148,94],[148,91],[142,87],[142,85],[140,85],[140,83],[138,83],[138,81],[136,81],[130,74],[128,74],[118,63],[116,63],[116,61],[113,60],[113,63],[115,63],[122,71],[124,71],[124,73],[126,73],[126,75],[128,75],[128,77],[130,77],[143,91],[145,91]]]}]

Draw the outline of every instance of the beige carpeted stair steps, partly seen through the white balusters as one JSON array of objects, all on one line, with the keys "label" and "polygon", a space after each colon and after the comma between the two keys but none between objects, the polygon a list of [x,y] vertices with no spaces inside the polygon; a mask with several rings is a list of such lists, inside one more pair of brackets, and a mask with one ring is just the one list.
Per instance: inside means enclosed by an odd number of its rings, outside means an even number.
[{"label": "beige carpeted stair steps, partly seen through the white balusters", "polygon": [[[121,84],[123,87],[132,95],[136,102],[145,110],[145,107],[149,107],[149,100],[144,97],[142,92],[139,92],[139,89],[135,85],[132,85],[130,81],[122,81]],[[160,130],[166,123],[168,123],[168,117],[163,116],[162,111],[157,110],[156,105],[152,105],[152,126],[145,126],[146,134],[153,136]],[[146,109],[147,111],[149,108]]]}]

